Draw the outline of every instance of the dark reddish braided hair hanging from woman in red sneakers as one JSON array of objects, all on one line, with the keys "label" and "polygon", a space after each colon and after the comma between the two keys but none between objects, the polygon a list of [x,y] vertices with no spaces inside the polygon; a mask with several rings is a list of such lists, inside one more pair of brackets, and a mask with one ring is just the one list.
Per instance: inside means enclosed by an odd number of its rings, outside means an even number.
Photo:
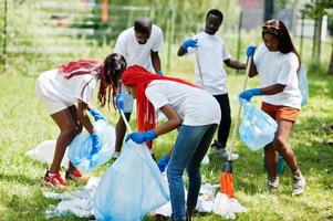
[{"label": "dark reddish braided hair hanging from woman in red sneakers", "polygon": [[115,96],[118,81],[126,66],[127,63],[124,56],[117,53],[112,53],[104,60],[98,77],[98,102],[101,107],[105,106],[106,103],[110,106],[111,96]]}]

